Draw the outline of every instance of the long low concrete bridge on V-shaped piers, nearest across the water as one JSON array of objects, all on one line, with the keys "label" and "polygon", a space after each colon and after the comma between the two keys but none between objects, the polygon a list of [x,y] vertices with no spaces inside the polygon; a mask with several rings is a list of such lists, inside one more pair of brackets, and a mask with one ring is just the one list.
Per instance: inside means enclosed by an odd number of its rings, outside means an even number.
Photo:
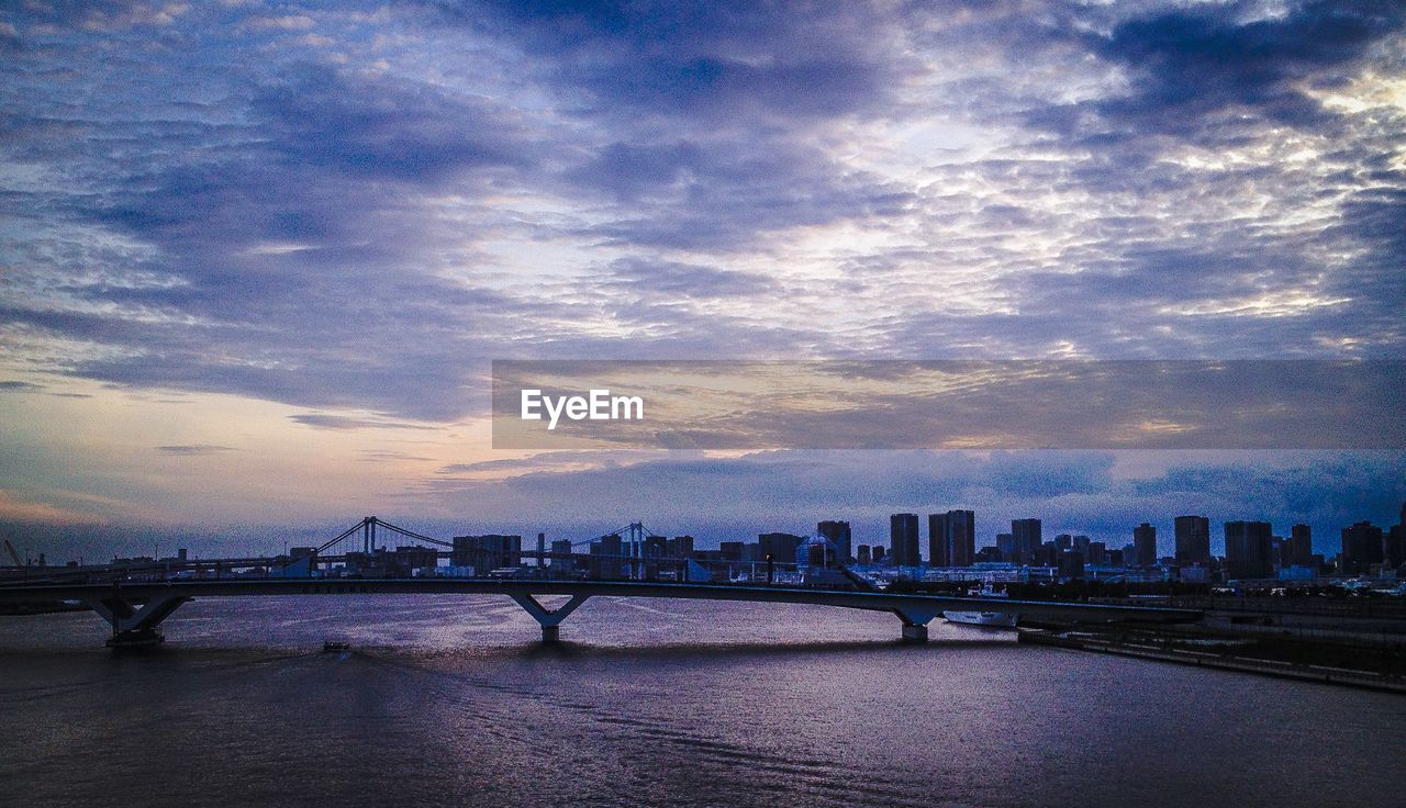
[{"label": "long low concrete bridge on V-shaped piers, nearest across the water", "polygon": [[[111,625],[112,637],[107,644],[112,648],[160,642],[163,639],[160,624],[183,603],[197,597],[294,594],[501,594],[516,601],[541,625],[544,642],[558,639],[562,621],[593,596],[803,603],[884,611],[898,618],[901,637],[908,642],[925,642],[928,623],[943,611],[993,611],[1056,621],[1102,624],[1116,621],[1191,623],[1201,618],[1199,610],[1188,608],[640,580],[232,578],[117,583],[0,583],[0,603],[4,604],[76,601],[87,606]],[[547,608],[537,600],[538,596],[567,596],[568,600],[557,608]]]}]

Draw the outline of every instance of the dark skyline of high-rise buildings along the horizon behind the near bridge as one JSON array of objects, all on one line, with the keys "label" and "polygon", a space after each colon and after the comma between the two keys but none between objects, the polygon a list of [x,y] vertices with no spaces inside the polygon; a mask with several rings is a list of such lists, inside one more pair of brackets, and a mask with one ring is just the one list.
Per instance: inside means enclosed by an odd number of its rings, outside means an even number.
[{"label": "dark skyline of high-rise buildings along the horizon behind the near bridge", "polygon": [[[1088,535],[1060,533],[1045,541],[1039,519],[1015,519],[1008,533],[977,547],[976,513],[948,510],[922,519],[896,513],[889,519],[889,542],[855,544],[848,521],[827,520],[811,535],[762,533],[756,541],[723,541],[717,549],[695,547],[692,535],[650,535],[643,526],[630,533],[588,542],[546,541],[536,549],[520,535],[454,537],[451,549],[419,544],[346,551],[336,559],[319,558],[316,548],[295,547],[278,556],[267,575],[291,576],[489,576],[555,579],[634,579],[676,582],[768,582],[846,585],[855,576],[920,580],[1077,579],[1133,583],[1182,582],[1306,582],[1320,578],[1406,579],[1406,503],[1400,521],[1381,528],[1368,521],[1341,528],[1341,551],[1324,556],[1313,551],[1308,524],[1278,535],[1268,521],[1223,523],[1225,554],[1211,552],[1211,520],[1178,516],[1173,521],[1173,552],[1161,555],[1157,528],[1142,523],[1130,541],[1109,547]],[[443,563],[447,558],[449,563]],[[153,559],[114,559],[114,563]],[[162,559],[167,561],[167,559]],[[169,559],[184,562],[180,558]],[[180,563],[176,563],[179,566]],[[250,573],[257,572],[250,569]],[[219,569],[214,571],[219,575]]]}]

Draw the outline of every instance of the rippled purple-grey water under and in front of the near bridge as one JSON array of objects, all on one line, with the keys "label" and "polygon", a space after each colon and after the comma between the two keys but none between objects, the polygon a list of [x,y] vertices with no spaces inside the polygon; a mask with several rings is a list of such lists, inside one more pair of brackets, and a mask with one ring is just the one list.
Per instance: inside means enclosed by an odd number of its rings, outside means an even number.
[{"label": "rippled purple-grey water under and in front of the near bridge", "polygon": [[[1376,805],[1406,698],[806,607],[201,600],[0,618],[0,805]],[[323,653],[329,638],[352,652]],[[1393,797],[1395,794],[1395,797]]]}]

